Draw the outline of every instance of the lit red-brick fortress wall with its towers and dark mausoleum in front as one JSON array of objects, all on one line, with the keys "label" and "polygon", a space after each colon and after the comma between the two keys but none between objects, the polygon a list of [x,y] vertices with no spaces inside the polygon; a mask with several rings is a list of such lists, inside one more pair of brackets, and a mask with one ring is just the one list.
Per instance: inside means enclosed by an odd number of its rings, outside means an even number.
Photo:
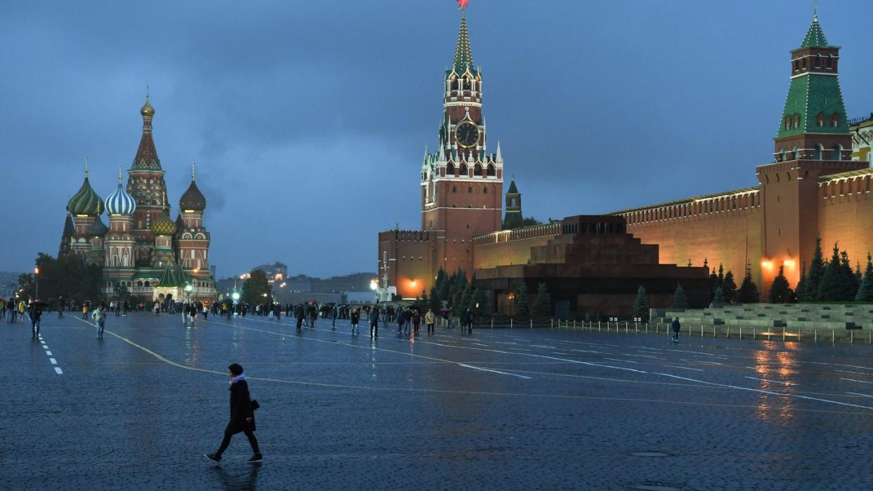
[{"label": "lit red-brick fortress wall with its towers and dark mausoleum in front", "polygon": [[[873,169],[863,160],[870,159],[873,115],[849,126],[839,50],[814,16],[787,60],[772,161],[754,167],[756,185],[515,228],[500,221],[504,160],[499,144],[497,153],[486,152],[483,81],[472,68],[464,12],[444,78],[439,147],[423,160],[422,229],[379,234],[382,299],[421,297],[440,268],[464,269],[485,291],[485,313],[512,314],[520,283],[533,304],[538,283],[546,283],[559,316],[627,316],[640,285],[654,308],[670,306],[679,284],[692,307],[705,306],[710,268],[719,264],[737,278],[748,269],[762,298],[780,267],[794,288],[817,236],[825,249],[839,242],[853,265],[863,261],[873,251]],[[520,200],[513,181],[503,224],[519,222]]]}]

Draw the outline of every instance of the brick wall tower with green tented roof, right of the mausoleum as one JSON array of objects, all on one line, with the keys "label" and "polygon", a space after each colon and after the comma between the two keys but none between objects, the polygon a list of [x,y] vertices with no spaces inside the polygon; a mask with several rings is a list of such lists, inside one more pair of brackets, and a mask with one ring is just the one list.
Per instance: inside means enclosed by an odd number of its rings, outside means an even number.
[{"label": "brick wall tower with green tented roof, right of the mausoleum", "polygon": [[814,14],[801,47],[791,51],[791,82],[773,139],[773,163],[757,167],[765,290],[780,265],[794,288],[801,264],[812,261],[819,230],[819,176],[867,167],[866,162],[849,160],[852,139],[837,77],[839,54]]}]

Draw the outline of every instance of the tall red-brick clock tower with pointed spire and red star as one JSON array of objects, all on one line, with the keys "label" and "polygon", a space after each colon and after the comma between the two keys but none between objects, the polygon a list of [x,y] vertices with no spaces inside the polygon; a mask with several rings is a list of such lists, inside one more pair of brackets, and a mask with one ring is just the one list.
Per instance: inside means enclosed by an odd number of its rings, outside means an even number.
[{"label": "tall red-brick clock tower with pointed spire and red star", "polygon": [[455,57],[443,78],[439,145],[436,152],[425,150],[422,165],[422,229],[436,233],[435,274],[461,268],[470,275],[472,236],[501,228],[503,159],[487,153],[482,87],[464,9]]}]

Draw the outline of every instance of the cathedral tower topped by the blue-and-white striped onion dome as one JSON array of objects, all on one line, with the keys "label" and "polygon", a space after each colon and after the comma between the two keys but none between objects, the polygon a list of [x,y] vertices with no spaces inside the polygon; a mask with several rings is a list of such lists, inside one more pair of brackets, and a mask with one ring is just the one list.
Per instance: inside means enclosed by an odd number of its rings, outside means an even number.
[{"label": "cathedral tower topped by the blue-and-white striped onion dome", "polygon": [[107,198],[109,233],[106,237],[106,260],[103,264],[104,294],[107,297],[126,297],[133,293],[134,235],[133,218],[136,212],[134,197],[127,194],[118,167],[118,188]]}]

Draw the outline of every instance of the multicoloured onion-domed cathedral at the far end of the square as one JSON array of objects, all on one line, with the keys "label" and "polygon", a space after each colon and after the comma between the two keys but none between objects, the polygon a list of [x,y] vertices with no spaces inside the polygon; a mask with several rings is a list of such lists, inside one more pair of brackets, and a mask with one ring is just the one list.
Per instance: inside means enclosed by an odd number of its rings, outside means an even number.
[{"label": "multicoloured onion-domed cathedral at the far end of the square", "polygon": [[[194,164],[174,221],[152,139],[155,108],[148,97],[140,113],[142,138],[127,171],[127,186],[119,167],[118,188],[102,200],[88,181],[86,162],[85,181],[66,205],[58,256],[72,254],[102,266],[105,298],[209,302],[216,297],[215,278],[209,263],[210,233],[203,227],[206,198],[197,188]],[[101,218],[104,211],[108,227]]]}]

